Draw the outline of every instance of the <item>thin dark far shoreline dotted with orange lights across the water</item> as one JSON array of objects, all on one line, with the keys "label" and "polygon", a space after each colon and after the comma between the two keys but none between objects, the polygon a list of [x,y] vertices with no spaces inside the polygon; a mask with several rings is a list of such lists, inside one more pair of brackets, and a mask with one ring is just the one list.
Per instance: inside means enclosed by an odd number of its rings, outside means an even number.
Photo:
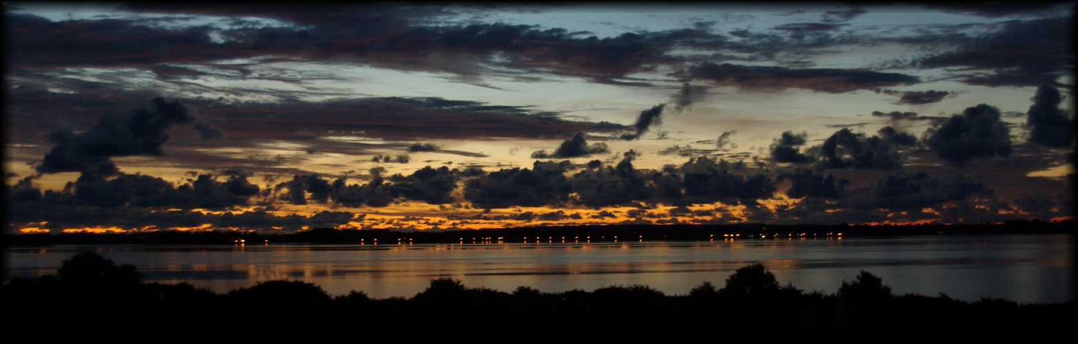
[{"label": "thin dark far shoreline dotted with orange lights across the water", "polygon": [[456,231],[315,228],[289,234],[243,231],[155,231],[132,233],[6,234],[8,246],[57,244],[431,244],[521,242],[695,241],[724,238],[790,239],[898,236],[926,234],[1067,234],[1075,220],[1009,220],[962,225],[608,225],[556,226]]}]

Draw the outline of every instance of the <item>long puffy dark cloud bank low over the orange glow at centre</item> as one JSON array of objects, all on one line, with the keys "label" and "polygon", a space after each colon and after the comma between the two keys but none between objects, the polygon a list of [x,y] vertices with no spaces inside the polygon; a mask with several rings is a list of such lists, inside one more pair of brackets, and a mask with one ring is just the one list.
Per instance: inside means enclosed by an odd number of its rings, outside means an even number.
[{"label": "long puffy dark cloud bank low over the orange glow at centre", "polygon": [[[729,171],[727,161],[701,157],[681,167],[667,166],[661,171],[633,167],[634,154],[625,154],[617,166],[595,160],[571,177],[565,172],[575,168],[569,161],[536,161],[535,169],[500,170],[468,180],[465,198],[479,207],[558,206],[571,202],[589,207],[611,205],[674,205],[724,202],[756,205],[775,191],[774,182],[764,175],[743,176]],[[734,163],[736,164],[736,163]]]}]

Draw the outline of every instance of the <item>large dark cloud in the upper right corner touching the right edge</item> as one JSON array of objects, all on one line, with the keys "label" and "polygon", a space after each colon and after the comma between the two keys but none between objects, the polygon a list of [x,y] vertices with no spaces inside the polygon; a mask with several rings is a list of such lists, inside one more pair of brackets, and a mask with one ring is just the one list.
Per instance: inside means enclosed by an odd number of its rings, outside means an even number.
[{"label": "large dark cloud in the upper right corner touching the right edge", "polygon": [[953,49],[920,59],[914,66],[963,68],[955,77],[970,85],[1051,84],[1074,66],[1073,27],[1070,16],[1009,22],[984,37],[949,39]]}]

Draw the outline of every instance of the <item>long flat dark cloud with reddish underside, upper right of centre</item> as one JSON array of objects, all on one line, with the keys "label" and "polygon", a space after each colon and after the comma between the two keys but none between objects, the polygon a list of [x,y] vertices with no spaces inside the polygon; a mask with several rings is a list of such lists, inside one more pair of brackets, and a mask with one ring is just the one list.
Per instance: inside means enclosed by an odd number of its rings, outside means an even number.
[{"label": "long flat dark cloud with reddish underside, upper right of centre", "polygon": [[683,75],[709,80],[720,85],[749,89],[803,88],[817,92],[842,94],[861,89],[912,85],[916,76],[852,69],[790,69],[785,67],[703,63]]}]

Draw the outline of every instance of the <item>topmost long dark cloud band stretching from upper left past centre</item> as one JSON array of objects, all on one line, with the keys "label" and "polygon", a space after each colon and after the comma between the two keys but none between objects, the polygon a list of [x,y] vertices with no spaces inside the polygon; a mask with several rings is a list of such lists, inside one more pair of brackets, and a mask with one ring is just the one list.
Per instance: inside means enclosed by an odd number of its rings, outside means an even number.
[{"label": "topmost long dark cloud band stretching from upper left past centre", "polygon": [[[75,23],[65,27],[39,19],[44,23],[25,28],[26,33],[50,32],[59,27],[82,40],[66,42],[63,39],[65,35],[58,35],[61,38],[58,41],[53,37],[52,41],[46,40],[32,45],[34,39],[43,34],[27,34],[25,40],[17,42],[16,51],[31,49],[36,54],[20,56],[19,61],[78,63],[73,58],[60,54],[64,49],[57,48],[66,46],[66,43],[78,43],[75,45],[78,49],[74,51],[93,48],[89,51],[97,54],[89,57],[102,60],[99,63],[116,60],[118,56],[127,57],[118,62],[141,64],[177,60],[212,61],[237,55],[280,56],[304,59],[350,59],[384,68],[448,72],[465,76],[489,71],[490,69],[485,66],[499,66],[517,70],[541,69],[566,76],[613,80],[671,59],[666,53],[678,44],[722,40],[721,37],[710,34],[705,29],[630,32],[599,39],[561,28],[541,29],[537,26],[501,23],[428,26],[426,24],[430,22],[426,16],[438,15],[444,10],[392,4],[315,8],[268,5],[266,9],[241,10],[219,6],[149,6],[140,8],[139,11],[246,14],[280,18],[296,25],[285,27],[247,25],[222,30],[217,34],[224,42],[215,43],[209,40],[209,28],[169,32],[124,20],[94,20],[109,22],[109,26],[99,23],[95,23],[97,26]],[[29,25],[19,23],[19,26]],[[108,32],[111,35],[109,39],[103,39],[93,34],[99,32]],[[148,39],[141,39],[139,35],[146,35]],[[135,44],[124,45],[128,42]],[[98,45],[101,47],[97,47]],[[134,49],[133,46],[140,45],[146,46],[142,47],[146,54],[122,54]],[[165,54],[168,47],[176,46],[181,46],[183,52],[191,53],[171,54],[172,56]],[[186,56],[174,57],[175,55]],[[531,77],[524,74],[516,76]]]}]

